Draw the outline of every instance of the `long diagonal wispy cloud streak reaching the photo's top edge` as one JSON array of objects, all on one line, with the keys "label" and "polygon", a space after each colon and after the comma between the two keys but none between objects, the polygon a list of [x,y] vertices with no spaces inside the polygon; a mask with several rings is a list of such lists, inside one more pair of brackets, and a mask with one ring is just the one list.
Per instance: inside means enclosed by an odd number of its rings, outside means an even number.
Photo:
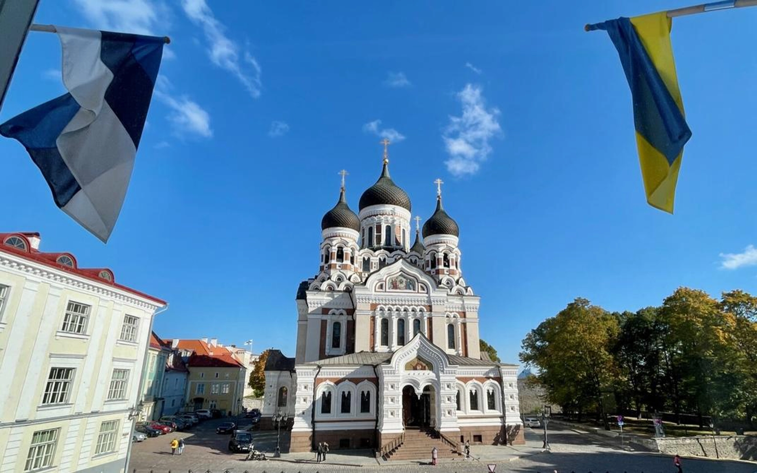
[{"label": "long diagonal wispy cloud streak reaching the photo's top edge", "polygon": [[248,51],[240,59],[239,46],[223,32],[225,26],[213,16],[205,0],[182,0],[182,8],[192,22],[202,26],[210,61],[232,73],[253,98],[260,97],[260,64]]}]

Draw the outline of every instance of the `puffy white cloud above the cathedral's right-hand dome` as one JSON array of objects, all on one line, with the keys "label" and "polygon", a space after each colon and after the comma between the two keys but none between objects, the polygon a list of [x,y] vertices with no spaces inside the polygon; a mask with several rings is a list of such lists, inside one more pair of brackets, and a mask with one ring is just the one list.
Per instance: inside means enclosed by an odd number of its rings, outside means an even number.
[{"label": "puffy white cloud above the cathedral's right-hand dome", "polygon": [[480,163],[491,154],[489,140],[500,135],[502,129],[497,122],[500,110],[487,109],[480,87],[466,84],[457,98],[463,105],[463,116],[450,117],[442,139],[450,155],[444,161],[447,170],[454,176],[463,176],[478,171]]}]

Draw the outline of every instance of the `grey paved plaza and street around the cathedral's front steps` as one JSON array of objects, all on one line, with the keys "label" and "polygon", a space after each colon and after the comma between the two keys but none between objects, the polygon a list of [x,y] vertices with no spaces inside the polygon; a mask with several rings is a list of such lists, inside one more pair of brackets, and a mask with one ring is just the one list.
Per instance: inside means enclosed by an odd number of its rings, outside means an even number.
[{"label": "grey paved plaza and street around the cathedral's front steps", "polygon": [[[438,471],[485,473],[488,464],[495,464],[496,473],[674,473],[676,468],[670,456],[643,451],[640,447],[621,445],[618,439],[580,433],[567,428],[550,431],[551,452],[544,452],[542,433],[530,428],[526,431],[526,445],[516,447],[471,447],[475,459],[444,460],[439,465],[426,461],[380,462],[369,450],[350,450],[349,455],[334,450],[326,462],[316,463],[314,453],[282,453],[281,459],[264,462],[245,461],[244,453],[229,453],[229,435],[216,434],[220,421],[207,421],[192,431],[161,435],[135,443],[129,472],[137,473],[242,473],[244,471],[268,473],[316,473],[316,471],[361,471],[372,473],[421,473]],[[276,448],[276,431],[254,431],[255,448],[273,455]],[[282,432],[282,451],[288,450],[288,433]],[[183,455],[172,456],[169,442],[182,437],[186,447]],[[430,452],[429,452],[430,457]],[[716,461],[684,458],[686,473],[757,473],[757,463]]]}]

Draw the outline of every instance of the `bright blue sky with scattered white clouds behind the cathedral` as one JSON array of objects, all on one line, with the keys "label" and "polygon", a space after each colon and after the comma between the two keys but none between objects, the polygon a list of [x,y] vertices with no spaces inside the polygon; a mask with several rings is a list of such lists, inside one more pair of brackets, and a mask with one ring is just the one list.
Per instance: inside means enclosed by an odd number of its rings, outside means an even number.
[{"label": "bright blue sky with scattered white clouds behind the cathedral", "polygon": [[[294,294],[318,269],[338,170],[357,209],[390,135],[413,215],[430,216],[444,180],[503,361],[575,297],[637,310],[679,285],[757,292],[757,8],[674,20],[693,138],[673,216],[646,205],[615,48],[582,29],[684,5],[42,0],[36,23],[172,42],[111,240],[58,210],[8,139],[3,231],[41,232],[43,251],[170,301],[160,336],[293,356]],[[64,93],[59,64],[57,37],[30,33],[0,120]]]}]

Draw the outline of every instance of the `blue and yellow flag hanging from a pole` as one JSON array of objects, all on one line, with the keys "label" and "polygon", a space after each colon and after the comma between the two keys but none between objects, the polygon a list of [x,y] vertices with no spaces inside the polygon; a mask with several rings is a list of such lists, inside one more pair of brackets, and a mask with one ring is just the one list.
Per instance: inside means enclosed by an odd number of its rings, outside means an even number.
[{"label": "blue and yellow flag hanging from a pole", "polygon": [[691,130],[678,90],[670,28],[664,11],[587,26],[609,34],[631,86],[646,201],[673,213],[678,170]]}]

